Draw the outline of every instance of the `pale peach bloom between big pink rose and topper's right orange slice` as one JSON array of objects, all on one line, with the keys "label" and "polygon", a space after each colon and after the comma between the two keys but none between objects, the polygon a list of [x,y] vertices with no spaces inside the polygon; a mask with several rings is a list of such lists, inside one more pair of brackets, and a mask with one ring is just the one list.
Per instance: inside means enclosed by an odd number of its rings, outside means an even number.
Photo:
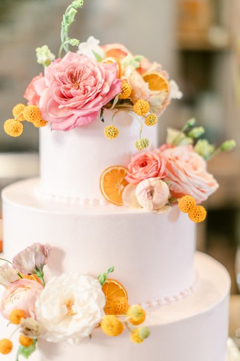
[{"label": "pale peach bloom between big pink rose and topper's right orange slice", "polygon": [[138,99],[147,100],[150,96],[150,89],[141,75],[136,71],[133,65],[128,65],[125,69],[124,76],[132,88],[131,100],[135,103]]}]

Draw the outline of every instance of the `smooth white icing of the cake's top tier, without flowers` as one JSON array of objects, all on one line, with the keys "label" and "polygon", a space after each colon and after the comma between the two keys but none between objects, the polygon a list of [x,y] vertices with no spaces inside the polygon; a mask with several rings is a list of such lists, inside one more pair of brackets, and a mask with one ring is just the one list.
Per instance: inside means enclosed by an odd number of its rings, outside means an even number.
[{"label": "smooth white icing of the cake's top tier, without flowers", "polygon": [[[74,128],[69,132],[50,129],[40,132],[41,191],[45,194],[72,199],[102,200],[99,179],[111,166],[127,166],[137,150],[134,142],[139,139],[139,122],[120,112],[114,117],[119,136],[109,140],[104,127],[110,125],[111,112],[104,112],[105,122],[98,116],[90,125]],[[142,120],[140,120],[142,121]],[[156,127],[144,126],[143,137],[151,147],[157,146]]]}]

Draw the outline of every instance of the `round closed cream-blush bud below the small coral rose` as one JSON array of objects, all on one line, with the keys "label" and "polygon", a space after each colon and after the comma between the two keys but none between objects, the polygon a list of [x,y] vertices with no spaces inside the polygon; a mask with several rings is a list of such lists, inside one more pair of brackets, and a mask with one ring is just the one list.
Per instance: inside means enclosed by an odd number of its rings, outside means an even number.
[{"label": "round closed cream-blush bud below the small coral rose", "polygon": [[163,208],[170,197],[167,183],[159,177],[148,178],[138,183],[135,194],[140,206],[148,211]]}]

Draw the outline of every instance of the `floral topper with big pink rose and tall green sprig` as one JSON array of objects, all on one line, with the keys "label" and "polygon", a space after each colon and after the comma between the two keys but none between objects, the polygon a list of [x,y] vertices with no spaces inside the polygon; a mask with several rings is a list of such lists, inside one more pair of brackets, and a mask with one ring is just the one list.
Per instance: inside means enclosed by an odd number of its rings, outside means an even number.
[{"label": "floral topper with big pink rose and tall green sprig", "polygon": [[[91,124],[98,115],[104,122],[104,110],[108,109],[112,120],[105,126],[106,138],[119,135],[114,117],[124,111],[139,124],[136,149],[146,149],[149,141],[142,135],[143,126],[155,125],[182,92],[161,64],[131,53],[122,44],[100,45],[93,36],[86,42],[69,38],[70,25],[82,6],[83,0],[73,1],[63,15],[58,57],[47,45],[36,48],[44,74],[35,76],[27,86],[27,106],[20,103],[13,108],[14,118],[5,121],[5,132],[20,136],[24,121],[35,127],[50,123],[53,130],[67,131]],[[70,46],[78,47],[76,52],[69,51]]]}]

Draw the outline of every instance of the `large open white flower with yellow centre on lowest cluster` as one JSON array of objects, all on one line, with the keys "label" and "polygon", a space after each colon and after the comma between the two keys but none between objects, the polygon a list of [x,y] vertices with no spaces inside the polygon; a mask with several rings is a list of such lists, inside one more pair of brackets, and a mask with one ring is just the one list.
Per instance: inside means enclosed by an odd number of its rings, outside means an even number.
[{"label": "large open white flower with yellow centre on lowest cluster", "polygon": [[105,296],[99,281],[78,272],[63,273],[39,293],[36,320],[49,342],[81,342],[104,316]]}]

